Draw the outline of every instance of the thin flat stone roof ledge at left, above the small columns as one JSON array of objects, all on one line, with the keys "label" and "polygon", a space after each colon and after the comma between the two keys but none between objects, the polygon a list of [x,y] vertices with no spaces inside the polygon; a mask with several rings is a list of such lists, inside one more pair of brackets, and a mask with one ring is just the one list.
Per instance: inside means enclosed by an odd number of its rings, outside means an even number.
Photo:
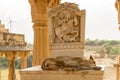
[{"label": "thin flat stone roof ledge at left, above the small columns", "polygon": [[32,51],[31,46],[0,46],[0,51]]}]

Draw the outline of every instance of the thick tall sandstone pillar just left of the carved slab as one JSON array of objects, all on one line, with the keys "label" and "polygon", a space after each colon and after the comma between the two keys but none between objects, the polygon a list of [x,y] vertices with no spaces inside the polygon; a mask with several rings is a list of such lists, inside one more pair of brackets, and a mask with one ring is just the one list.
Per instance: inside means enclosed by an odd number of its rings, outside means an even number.
[{"label": "thick tall sandstone pillar just left of the carved slab", "polygon": [[34,47],[32,65],[41,65],[50,56],[48,42],[47,8],[57,5],[60,0],[29,0],[32,22],[34,23]]}]

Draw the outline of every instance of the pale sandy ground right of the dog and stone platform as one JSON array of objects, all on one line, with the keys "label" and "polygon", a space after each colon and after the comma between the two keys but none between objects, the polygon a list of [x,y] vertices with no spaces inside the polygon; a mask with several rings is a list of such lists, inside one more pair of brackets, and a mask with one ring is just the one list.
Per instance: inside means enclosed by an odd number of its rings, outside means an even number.
[{"label": "pale sandy ground right of the dog and stone platform", "polygon": [[103,80],[116,80],[116,71],[113,64],[115,64],[117,60],[113,60],[107,56],[105,58],[99,58],[99,55],[90,53],[86,53],[85,57],[89,57],[90,55],[93,55],[97,65],[104,65]]}]

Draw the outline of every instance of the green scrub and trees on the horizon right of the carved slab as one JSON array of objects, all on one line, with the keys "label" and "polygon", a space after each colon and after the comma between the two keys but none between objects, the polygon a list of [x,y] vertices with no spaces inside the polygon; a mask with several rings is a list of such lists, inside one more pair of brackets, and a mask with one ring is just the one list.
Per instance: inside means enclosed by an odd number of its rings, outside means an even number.
[{"label": "green scrub and trees on the horizon right of the carved slab", "polygon": [[120,54],[120,40],[90,40],[86,39],[86,46],[101,46],[105,49],[106,54],[119,55]]}]

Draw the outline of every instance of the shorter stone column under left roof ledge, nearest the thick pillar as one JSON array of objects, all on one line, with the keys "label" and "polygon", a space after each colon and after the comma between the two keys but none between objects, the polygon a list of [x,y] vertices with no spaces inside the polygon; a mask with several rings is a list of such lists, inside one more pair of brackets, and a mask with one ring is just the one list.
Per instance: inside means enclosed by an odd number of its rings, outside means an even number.
[{"label": "shorter stone column under left roof ledge, nearest the thick pillar", "polygon": [[29,51],[19,52],[19,56],[21,57],[21,68],[27,68],[27,56],[29,55]]}]

